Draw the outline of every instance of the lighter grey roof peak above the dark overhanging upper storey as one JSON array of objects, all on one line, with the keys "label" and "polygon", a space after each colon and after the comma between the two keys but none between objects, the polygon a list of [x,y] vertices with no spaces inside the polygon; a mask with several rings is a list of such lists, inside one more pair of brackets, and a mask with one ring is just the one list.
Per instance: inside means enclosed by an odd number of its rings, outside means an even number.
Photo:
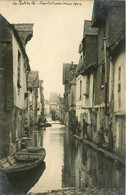
[{"label": "lighter grey roof peak above the dark overhanging upper storey", "polygon": [[86,35],[97,35],[97,34],[98,34],[98,28],[92,27],[91,21],[85,20],[83,37],[85,37]]}]

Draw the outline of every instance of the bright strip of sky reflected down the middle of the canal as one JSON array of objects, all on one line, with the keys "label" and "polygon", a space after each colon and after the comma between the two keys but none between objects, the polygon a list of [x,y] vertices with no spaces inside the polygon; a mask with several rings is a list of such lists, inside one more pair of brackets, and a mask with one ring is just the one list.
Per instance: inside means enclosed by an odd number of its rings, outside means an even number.
[{"label": "bright strip of sky reflected down the middle of the canal", "polygon": [[46,170],[39,182],[30,190],[37,193],[51,189],[62,188],[61,173],[64,156],[64,135],[65,127],[59,124],[53,124],[43,133],[43,147],[46,149]]}]

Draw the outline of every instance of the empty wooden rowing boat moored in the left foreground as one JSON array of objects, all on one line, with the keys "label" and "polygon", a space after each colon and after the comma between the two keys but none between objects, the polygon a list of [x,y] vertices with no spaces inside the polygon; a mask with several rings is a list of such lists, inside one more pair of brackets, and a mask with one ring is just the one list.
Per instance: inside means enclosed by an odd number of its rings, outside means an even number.
[{"label": "empty wooden rowing boat moored in the left foreground", "polygon": [[[35,150],[35,149],[34,149]],[[45,149],[36,148],[36,152],[27,149],[15,153],[0,160],[0,170],[6,174],[27,173],[27,171],[37,167],[42,163],[46,155]]]}]

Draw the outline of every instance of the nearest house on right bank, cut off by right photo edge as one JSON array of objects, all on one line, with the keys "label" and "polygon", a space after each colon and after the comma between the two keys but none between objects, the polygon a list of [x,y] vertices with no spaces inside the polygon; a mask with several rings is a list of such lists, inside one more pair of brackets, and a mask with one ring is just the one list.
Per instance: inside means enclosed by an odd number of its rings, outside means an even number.
[{"label": "nearest house on right bank, cut off by right photo edge", "polygon": [[[108,135],[108,148],[123,159],[126,114],[124,21],[124,1],[94,1],[92,26],[99,29],[99,76],[94,79],[95,105],[99,106],[96,112],[97,128],[103,120],[103,129]],[[99,78],[100,82],[97,82]]]}]

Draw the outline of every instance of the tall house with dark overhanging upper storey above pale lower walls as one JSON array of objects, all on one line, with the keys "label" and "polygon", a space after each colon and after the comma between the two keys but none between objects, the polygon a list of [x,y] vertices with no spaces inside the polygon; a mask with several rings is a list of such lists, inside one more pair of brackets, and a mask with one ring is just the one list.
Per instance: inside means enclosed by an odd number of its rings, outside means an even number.
[{"label": "tall house with dark overhanging upper storey above pale lower walls", "polygon": [[[80,60],[76,69],[76,116],[83,127],[83,119],[92,124],[94,105],[94,71],[97,67],[97,28],[84,21],[83,39],[79,45]],[[91,138],[92,135],[90,135]]]}]

